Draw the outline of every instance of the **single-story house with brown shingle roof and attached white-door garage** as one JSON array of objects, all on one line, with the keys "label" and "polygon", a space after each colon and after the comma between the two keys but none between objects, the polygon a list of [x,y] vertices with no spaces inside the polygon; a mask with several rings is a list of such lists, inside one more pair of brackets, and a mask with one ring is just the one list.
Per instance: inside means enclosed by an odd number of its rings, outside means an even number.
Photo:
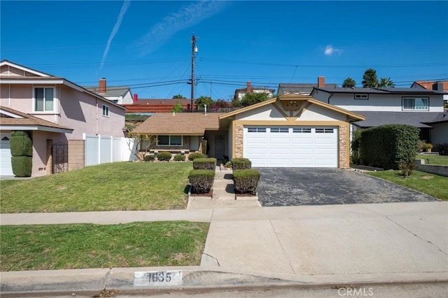
[{"label": "single-story house with brown shingle roof and attached white-door garage", "polygon": [[[349,167],[351,122],[363,115],[288,94],[230,113],[157,113],[132,133],[154,136],[151,152],[246,157],[255,167]],[[148,144],[143,144],[145,150]]]}]

